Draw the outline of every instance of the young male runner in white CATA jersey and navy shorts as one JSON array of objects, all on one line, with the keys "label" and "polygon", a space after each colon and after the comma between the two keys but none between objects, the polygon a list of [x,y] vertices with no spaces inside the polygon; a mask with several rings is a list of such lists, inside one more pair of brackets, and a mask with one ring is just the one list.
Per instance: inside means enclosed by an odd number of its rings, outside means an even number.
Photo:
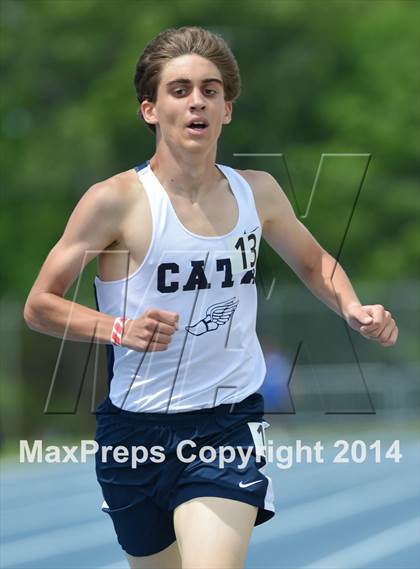
[{"label": "young male runner in white CATA jersey and navy shorts", "polygon": [[[265,365],[255,332],[261,235],[304,284],[364,337],[395,344],[381,305],[363,306],[340,265],[266,172],[215,163],[240,89],[236,61],[201,28],[159,34],[136,69],[150,161],[92,186],[46,259],[25,306],[40,332],[109,345],[101,448],[143,446],[137,468],[107,454],[97,475],[131,567],[242,567],[252,528],[274,515],[261,457]],[[99,311],[64,295],[98,256]],[[232,406],[232,404],[235,404]],[[233,409],[232,412],[230,412]],[[185,446],[189,462],[176,449]],[[152,460],[152,447],[164,460]],[[250,449],[219,467],[204,446]],[[208,450],[208,449],[207,449]],[[208,450],[211,457],[211,450]],[[98,453],[99,455],[99,453]],[[207,456],[207,455],[206,455]]]}]

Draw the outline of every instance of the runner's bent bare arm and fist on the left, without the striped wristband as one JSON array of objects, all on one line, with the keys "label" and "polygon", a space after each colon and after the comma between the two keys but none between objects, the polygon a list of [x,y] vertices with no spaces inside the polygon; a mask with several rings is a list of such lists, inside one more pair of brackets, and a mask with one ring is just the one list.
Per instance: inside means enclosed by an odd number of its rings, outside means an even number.
[{"label": "runner's bent bare arm and fist on the left, without the striped wristband", "polygon": [[[110,342],[115,317],[67,300],[64,295],[84,267],[119,239],[128,204],[122,184],[113,179],[95,184],[84,194],[26,301],[24,318],[31,329],[68,340]],[[162,351],[176,327],[175,313],[147,310],[127,324],[123,345],[138,351]]]}]

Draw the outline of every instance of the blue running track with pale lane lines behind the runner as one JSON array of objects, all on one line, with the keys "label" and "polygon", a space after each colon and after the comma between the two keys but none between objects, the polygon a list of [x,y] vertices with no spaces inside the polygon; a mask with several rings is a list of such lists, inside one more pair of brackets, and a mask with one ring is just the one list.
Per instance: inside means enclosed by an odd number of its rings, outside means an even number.
[{"label": "blue running track with pale lane lines behind the runner", "polygon": [[[269,417],[268,417],[269,418]],[[270,418],[269,418],[270,419]],[[372,424],[377,419],[370,418]],[[367,428],[360,418],[292,427],[273,418],[268,438],[274,447],[324,445],[323,463],[270,464],[277,515],[253,532],[247,569],[415,569],[420,567],[419,442],[416,419]],[[350,427],[350,424],[352,425]],[[281,426],[279,426],[281,425]],[[381,456],[355,448],[355,460],[333,462],[339,439],[380,440]],[[401,460],[385,458],[400,440]],[[45,444],[50,444],[45,441]],[[347,453],[349,456],[349,453]],[[363,460],[361,460],[361,458]],[[358,462],[359,461],[359,462]],[[112,523],[101,512],[94,464],[20,464],[1,467],[2,568],[128,567]]]}]

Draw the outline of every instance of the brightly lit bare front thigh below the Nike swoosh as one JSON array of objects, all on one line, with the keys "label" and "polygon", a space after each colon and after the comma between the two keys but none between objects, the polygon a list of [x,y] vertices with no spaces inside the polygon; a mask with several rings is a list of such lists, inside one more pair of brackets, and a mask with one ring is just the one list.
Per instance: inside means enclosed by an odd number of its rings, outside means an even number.
[{"label": "brightly lit bare front thigh below the Nike swoosh", "polygon": [[175,509],[183,569],[240,569],[258,509],[226,498],[202,497]]}]

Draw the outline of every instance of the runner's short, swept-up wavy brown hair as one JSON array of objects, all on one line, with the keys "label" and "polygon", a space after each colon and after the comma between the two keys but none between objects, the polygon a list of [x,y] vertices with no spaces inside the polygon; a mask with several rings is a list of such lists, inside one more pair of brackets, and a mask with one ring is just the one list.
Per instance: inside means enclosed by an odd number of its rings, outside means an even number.
[{"label": "runner's short, swept-up wavy brown hair", "polygon": [[[218,68],[223,80],[226,101],[234,101],[241,90],[241,78],[235,56],[218,34],[196,26],[170,28],[158,34],[145,47],[137,62],[134,76],[137,100],[156,101],[162,67],[175,57],[194,53],[205,57]],[[155,131],[154,125],[148,125]]]}]

